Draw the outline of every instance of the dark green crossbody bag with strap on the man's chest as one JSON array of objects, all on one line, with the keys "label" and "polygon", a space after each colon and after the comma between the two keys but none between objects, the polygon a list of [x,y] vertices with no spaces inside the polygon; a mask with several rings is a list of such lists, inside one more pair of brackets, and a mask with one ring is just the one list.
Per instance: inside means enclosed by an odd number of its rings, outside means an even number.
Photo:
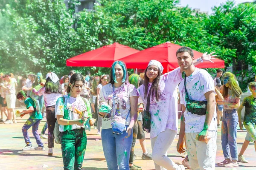
[{"label": "dark green crossbody bag with strap on the man's chest", "polygon": [[186,109],[192,114],[197,115],[205,115],[207,110],[207,101],[196,101],[189,99],[188,92],[186,90],[186,76],[184,81],[184,88],[185,88],[185,101],[186,101]]}]

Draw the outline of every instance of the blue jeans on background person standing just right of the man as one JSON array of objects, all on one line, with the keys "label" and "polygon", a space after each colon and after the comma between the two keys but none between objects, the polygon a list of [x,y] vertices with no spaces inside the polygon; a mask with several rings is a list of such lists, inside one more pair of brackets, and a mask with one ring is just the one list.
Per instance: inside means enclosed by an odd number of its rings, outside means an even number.
[{"label": "blue jeans on background person standing just right of the man", "polygon": [[224,110],[221,125],[221,145],[225,159],[237,160],[236,132],[238,114],[236,109]]}]

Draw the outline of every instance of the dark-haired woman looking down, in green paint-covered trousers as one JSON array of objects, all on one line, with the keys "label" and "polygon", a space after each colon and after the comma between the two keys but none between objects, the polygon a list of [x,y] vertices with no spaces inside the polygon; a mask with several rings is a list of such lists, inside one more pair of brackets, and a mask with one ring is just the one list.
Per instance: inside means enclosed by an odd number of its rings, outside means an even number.
[{"label": "dark-haired woman looking down, in green paint-covered trousers", "polygon": [[55,106],[64,170],[81,170],[83,165],[87,144],[84,122],[92,117],[90,102],[79,95],[83,87],[82,75],[73,74],[67,88],[68,94],[59,98]]}]

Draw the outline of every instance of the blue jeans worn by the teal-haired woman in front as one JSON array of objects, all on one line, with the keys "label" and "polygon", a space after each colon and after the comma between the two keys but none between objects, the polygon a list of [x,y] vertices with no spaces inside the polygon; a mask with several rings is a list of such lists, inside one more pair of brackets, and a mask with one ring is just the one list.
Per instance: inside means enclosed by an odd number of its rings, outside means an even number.
[{"label": "blue jeans worn by the teal-haired woman in front", "polygon": [[133,135],[131,132],[131,136],[125,138],[127,135],[126,131],[122,135],[116,135],[112,134],[112,129],[102,129],[102,147],[108,170],[130,170],[129,158]]}]

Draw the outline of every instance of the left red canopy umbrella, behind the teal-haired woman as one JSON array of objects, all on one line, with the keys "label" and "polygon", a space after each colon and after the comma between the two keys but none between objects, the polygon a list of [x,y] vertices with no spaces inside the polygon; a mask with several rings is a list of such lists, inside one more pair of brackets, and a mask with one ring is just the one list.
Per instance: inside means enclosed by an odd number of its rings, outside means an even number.
[{"label": "left red canopy umbrella, behind the teal-haired woman", "polygon": [[115,42],[111,45],[105,45],[101,48],[67,59],[67,66],[111,67],[114,61],[137,52],[138,50],[134,48]]}]

